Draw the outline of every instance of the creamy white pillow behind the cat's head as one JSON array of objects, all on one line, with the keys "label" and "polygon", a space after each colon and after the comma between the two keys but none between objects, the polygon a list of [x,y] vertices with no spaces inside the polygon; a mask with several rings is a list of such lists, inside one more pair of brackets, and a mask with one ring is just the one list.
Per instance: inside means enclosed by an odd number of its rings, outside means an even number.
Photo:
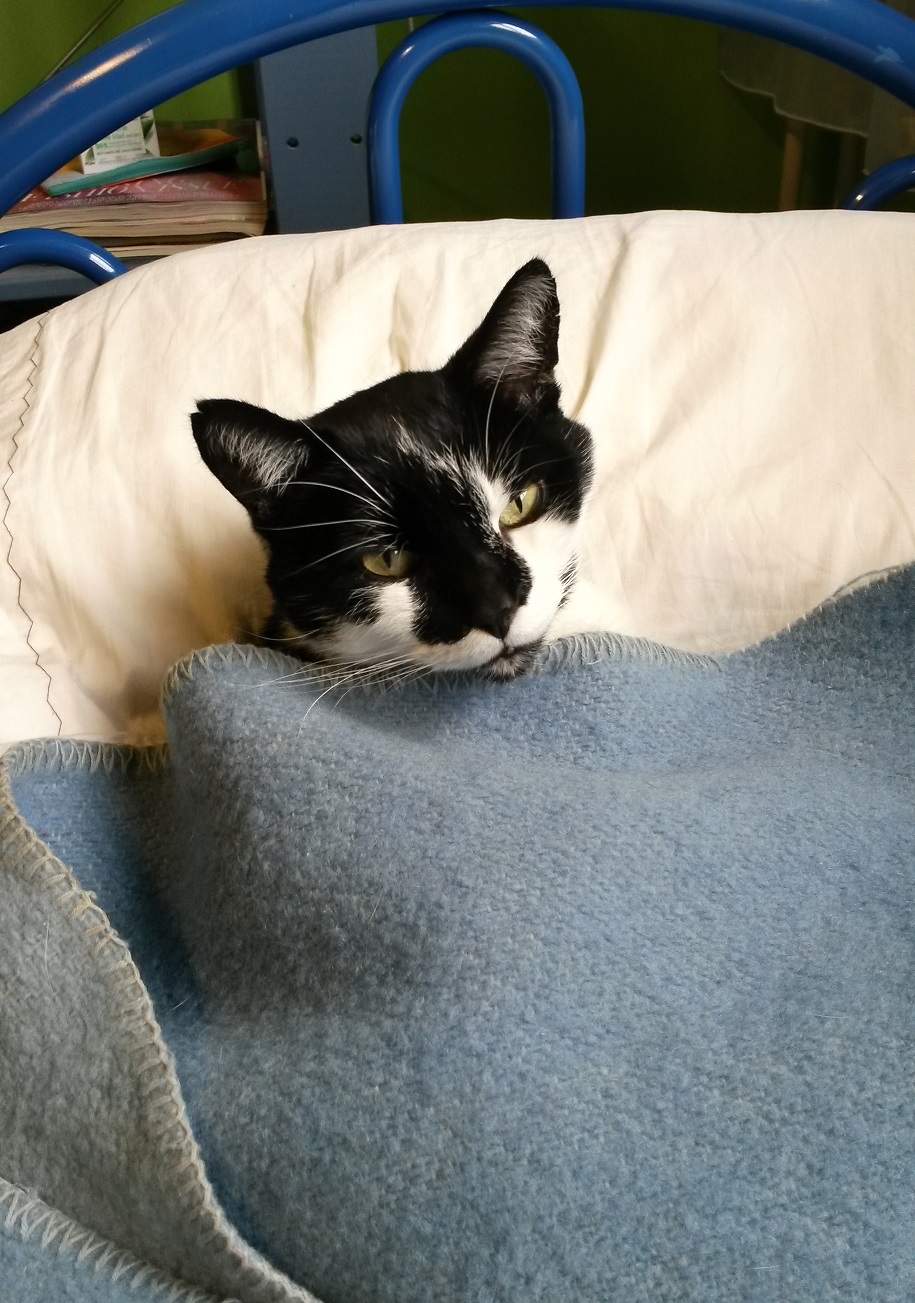
[{"label": "creamy white pillow behind the cat's head", "polygon": [[915,558],[912,216],[249,240],[0,336],[0,739],[158,737],[168,665],[257,623],[259,545],[197,456],[197,399],[308,416],[439,366],[534,254],[559,285],[564,407],[597,442],[601,624],[725,652]]}]

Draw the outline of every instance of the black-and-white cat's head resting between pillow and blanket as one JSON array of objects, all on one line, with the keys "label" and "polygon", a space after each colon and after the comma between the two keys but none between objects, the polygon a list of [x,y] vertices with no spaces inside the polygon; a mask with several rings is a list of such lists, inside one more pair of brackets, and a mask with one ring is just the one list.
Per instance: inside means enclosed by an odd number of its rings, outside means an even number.
[{"label": "black-and-white cat's head resting between pillow and blanket", "polygon": [[278,645],[378,671],[527,668],[574,582],[592,473],[590,435],[559,410],[558,331],[533,261],[439,371],[308,421],[198,405],[201,456],[267,546]]}]

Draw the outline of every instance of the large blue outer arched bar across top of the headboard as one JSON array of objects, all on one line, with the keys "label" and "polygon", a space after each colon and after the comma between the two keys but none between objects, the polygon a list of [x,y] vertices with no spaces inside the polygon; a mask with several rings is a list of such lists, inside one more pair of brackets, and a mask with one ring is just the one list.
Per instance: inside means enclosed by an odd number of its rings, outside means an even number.
[{"label": "large blue outer arched bar across top of the headboard", "polygon": [[[532,8],[555,0],[532,0]],[[850,68],[915,107],[915,22],[880,0],[597,0],[718,22]],[[185,0],[57,73],[0,117],[0,212],[116,126],[216,73],[463,0]],[[592,8],[594,7],[592,0]],[[484,0],[477,8],[491,9]]]}]

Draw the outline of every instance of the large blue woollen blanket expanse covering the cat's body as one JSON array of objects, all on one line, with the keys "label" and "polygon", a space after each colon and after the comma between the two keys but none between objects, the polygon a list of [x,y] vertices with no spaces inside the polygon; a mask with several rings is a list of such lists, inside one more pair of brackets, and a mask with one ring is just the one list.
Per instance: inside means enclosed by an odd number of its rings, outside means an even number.
[{"label": "large blue woollen blanket expanse covering the cat's body", "polygon": [[914,635],[905,571],[717,663],[322,696],[216,649],[116,855],[104,769],[13,791],[223,1207],[326,1303],[901,1303]]}]

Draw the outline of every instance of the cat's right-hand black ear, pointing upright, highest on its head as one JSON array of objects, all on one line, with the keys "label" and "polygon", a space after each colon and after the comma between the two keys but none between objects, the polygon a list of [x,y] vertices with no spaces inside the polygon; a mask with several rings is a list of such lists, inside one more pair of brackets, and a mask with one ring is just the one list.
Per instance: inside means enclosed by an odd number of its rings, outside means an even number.
[{"label": "cat's right-hand black ear, pointing upright, highest on its head", "polygon": [[523,405],[555,396],[559,361],[559,296],[542,258],[511,278],[481,326],[455,353],[450,367],[469,371],[473,384]]}]

